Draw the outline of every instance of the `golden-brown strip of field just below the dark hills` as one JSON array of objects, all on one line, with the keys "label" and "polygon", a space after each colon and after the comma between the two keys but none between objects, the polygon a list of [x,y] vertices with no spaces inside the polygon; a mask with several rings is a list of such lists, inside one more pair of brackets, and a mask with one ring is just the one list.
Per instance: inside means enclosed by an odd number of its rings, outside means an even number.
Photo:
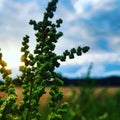
[{"label": "golden-brown strip of field just below the dark hills", "polygon": [[[107,89],[107,92],[108,94],[114,94],[116,91],[118,91],[120,88],[118,87],[98,87],[98,88],[95,88],[95,94],[99,94],[100,91],[102,91],[103,89]],[[17,99],[17,103],[20,103],[20,101],[22,100],[22,88],[21,87],[16,87],[16,93],[18,95],[18,99]],[[49,90],[50,88],[47,87],[46,88],[46,94],[44,94],[41,99],[40,99],[40,102],[42,104],[45,104],[47,102],[47,100],[49,99]],[[66,100],[69,100],[72,96],[72,90],[75,90],[75,93],[76,94],[79,94],[79,87],[60,87],[60,90],[64,93],[64,99]],[[6,98],[6,93],[4,92],[0,92],[0,95],[3,97],[3,98]]]}]

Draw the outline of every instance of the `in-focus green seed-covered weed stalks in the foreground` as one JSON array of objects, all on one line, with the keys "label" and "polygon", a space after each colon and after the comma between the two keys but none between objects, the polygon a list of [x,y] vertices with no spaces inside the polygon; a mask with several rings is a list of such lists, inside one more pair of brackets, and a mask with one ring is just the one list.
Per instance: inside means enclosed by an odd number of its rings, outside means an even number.
[{"label": "in-focus green seed-covered weed stalks in the foreground", "polygon": [[62,55],[57,55],[54,52],[58,39],[63,35],[58,32],[57,28],[61,26],[62,19],[52,22],[56,4],[58,0],[52,0],[48,3],[48,7],[44,13],[42,21],[36,22],[30,20],[29,24],[33,25],[36,31],[36,46],[31,53],[29,51],[29,36],[26,35],[22,41],[21,62],[23,65],[19,67],[22,76],[19,79],[22,81],[23,99],[20,105],[16,104],[17,95],[15,86],[12,83],[11,73],[5,67],[7,64],[2,60],[0,53],[0,72],[4,79],[4,85],[0,85],[0,90],[8,94],[6,99],[0,98],[0,120],[39,120],[41,117],[41,108],[39,99],[46,93],[47,81],[51,80],[49,101],[48,120],[62,120],[63,113],[66,112],[68,103],[59,103],[63,99],[63,92],[59,90],[59,86],[63,85],[59,75],[55,72],[55,68],[60,66],[60,61],[65,61],[68,56],[74,58],[74,54],[82,55],[89,50],[88,46],[81,48],[80,46],[70,51],[65,50]]}]

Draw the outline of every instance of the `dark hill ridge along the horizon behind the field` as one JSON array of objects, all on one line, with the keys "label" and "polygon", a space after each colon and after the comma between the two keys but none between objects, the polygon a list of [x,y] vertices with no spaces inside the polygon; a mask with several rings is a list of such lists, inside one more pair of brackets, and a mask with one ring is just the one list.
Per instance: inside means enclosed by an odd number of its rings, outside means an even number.
[{"label": "dark hill ridge along the horizon behind the field", "polygon": [[[84,78],[84,79],[69,79],[66,77],[60,76],[60,79],[63,80],[64,86],[108,86],[108,87],[120,87],[120,77],[119,76],[110,76],[106,78]],[[14,79],[13,83],[16,86],[21,86],[22,81],[18,79]],[[4,84],[3,82],[0,81],[0,84]],[[52,84],[51,82],[48,81],[48,85]]]}]

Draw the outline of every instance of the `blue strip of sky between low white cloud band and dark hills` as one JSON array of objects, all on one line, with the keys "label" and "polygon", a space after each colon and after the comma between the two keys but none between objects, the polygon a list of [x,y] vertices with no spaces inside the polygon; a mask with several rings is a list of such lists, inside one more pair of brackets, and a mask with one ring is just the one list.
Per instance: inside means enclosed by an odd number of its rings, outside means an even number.
[{"label": "blue strip of sky between low white cloud band and dark hills", "polygon": [[[68,78],[85,78],[87,77],[88,73],[88,68],[90,66],[90,62],[84,63],[84,64],[74,64],[74,65],[61,65],[60,68],[57,69],[58,73],[61,73],[64,77]],[[114,66],[116,63],[112,63]],[[90,76],[92,78],[101,78],[101,77],[107,77],[107,76],[112,76],[112,75],[120,75],[120,70],[119,69],[114,69],[114,70],[107,70],[110,69],[107,66],[107,62],[104,63],[93,63],[93,67],[90,71]],[[71,72],[72,71],[72,72]]]}]

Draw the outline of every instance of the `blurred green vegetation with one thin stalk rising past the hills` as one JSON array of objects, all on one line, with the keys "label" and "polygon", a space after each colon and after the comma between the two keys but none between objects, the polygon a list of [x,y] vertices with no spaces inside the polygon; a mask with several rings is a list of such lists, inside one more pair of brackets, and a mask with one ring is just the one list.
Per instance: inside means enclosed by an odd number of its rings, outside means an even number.
[{"label": "blurred green vegetation with one thin stalk rising past the hills", "polygon": [[[92,64],[88,68],[85,83],[79,87],[72,87],[70,106],[64,116],[66,120],[119,120],[120,91],[110,94],[109,87],[97,87],[91,82],[90,73]],[[99,92],[97,90],[100,90]],[[96,92],[97,91],[97,92]]]}]

